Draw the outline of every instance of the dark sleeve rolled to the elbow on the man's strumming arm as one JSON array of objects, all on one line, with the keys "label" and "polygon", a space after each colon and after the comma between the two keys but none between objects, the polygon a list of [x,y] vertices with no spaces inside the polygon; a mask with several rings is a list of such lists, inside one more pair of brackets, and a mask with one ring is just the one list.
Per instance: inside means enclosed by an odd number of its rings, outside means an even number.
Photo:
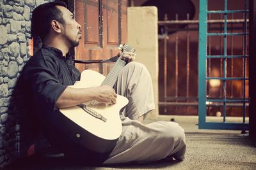
[{"label": "dark sleeve rolled to the elbow on the man's strumming arm", "polygon": [[56,63],[52,60],[37,60],[37,63],[29,65],[24,80],[30,86],[34,103],[40,108],[54,110],[56,101],[67,88],[58,78],[60,73]]}]

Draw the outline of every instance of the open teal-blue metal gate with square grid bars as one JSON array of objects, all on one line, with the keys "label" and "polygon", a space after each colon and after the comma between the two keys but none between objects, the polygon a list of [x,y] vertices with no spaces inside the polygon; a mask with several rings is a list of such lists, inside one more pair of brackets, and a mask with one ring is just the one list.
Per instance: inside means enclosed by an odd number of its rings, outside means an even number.
[{"label": "open teal-blue metal gate with square grid bars", "polygon": [[[225,8],[222,11],[209,11],[207,7],[207,0],[200,0],[200,17],[199,17],[199,59],[198,59],[198,128],[199,129],[227,129],[227,130],[242,130],[246,131],[249,128],[249,124],[246,123],[246,104],[249,103],[248,99],[245,98],[245,95],[241,99],[228,99],[226,96],[226,81],[227,80],[242,80],[244,85],[245,81],[248,81],[246,75],[243,74],[243,77],[227,77],[225,73],[227,67],[227,59],[228,58],[243,58],[245,59],[248,57],[246,55],[246,51],[244,50],[243,55],[227,55],[227,36],[244,36],[244,49],[246,46],[246,36],[248,32],[246,32],[246,15],[248,15],[247,1],[248,0],[241,0],[244,1],[244,8],[243,10],[228,10],[227,0],[225,0]],[[230,1],[229,1],[230,2]],[[218,33],[211,33],[207,32],[207,19],[208,14],[211,13],[222,13],[224,15],[224,23],[223,32]],[[227,14],[228,13],[244,13],[244,32],[228,32],[227,31]],[[207,55],[207,37],[209,36],[223,36],[223,54],[221,55]],[[207,59],[218,58],[223,59],[223,75],[221,77],[207,77]],[[221,99],[209,99],[207,98],[207,81],[209,80],[220,80],[222,81],[223,87],[223,97]],[[245,94],[245,86],[243,89]],[[207,103],[221,103],[223,109],[223,122],[206,122],[207,116]],[[236,123],[236,122],[226,122],[226,107],[228,103],[239,103],[243,107],[243,122]]]}]

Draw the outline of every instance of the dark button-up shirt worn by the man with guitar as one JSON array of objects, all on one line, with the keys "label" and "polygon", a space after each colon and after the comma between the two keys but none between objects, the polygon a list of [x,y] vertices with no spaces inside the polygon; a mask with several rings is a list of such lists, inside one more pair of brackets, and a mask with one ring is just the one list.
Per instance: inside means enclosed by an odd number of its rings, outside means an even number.
[{"label": "dark button-up shirt worn by the man with guitar", "polygon": [[71,156],[77,155],[90,163],[102,163],[109,153],[95,153],[73,142],[70,134],[77,127],[56,108],[58,97],[68,85],[74,85],[79,77],[80,73],[69,55],[63,57],[60,50],[42,46],[29,59],[19,78],[26,99],[25,105],[29,110],[25,116],[26,121],[32,124],[29,129],[34,133],[43,131],[52,145]]}]

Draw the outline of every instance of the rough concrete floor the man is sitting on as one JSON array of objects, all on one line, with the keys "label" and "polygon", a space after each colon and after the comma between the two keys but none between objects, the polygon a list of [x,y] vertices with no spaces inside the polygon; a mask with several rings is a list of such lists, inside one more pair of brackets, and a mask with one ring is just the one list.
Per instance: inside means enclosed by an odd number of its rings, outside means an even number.
[{"label": "rough concrete floor the man is sitting on", "polygon": [[[256,169],[256,147],[248,134],[241,134],[241,131],[198,129],[197,117],[161,116],[157,120],[168,121],[170,118],[174,118],[186,132],[186,159],[182,162],[161,160],[150,164],[90,167],[70,164],[63,157],[57,156],[24,162],[11,169]],[[155,120],[145,120],[145,123],[152,121]]]}]

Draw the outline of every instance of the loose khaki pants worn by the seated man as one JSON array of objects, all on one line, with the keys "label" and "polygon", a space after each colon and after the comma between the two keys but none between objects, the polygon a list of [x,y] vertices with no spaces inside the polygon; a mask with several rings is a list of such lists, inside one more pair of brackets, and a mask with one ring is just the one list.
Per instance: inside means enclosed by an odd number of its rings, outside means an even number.
[{"label": "loose khaki pants worn by the seated man", "polygon": [[183,160],[185,134],[179,124],[161,121],[144,125],[134,120],[155,108],[152,80],[147,68],[138,62],[130,62],[119,74],[115,89],[127,97],[129,103],[120,113],[122,134],[104,164],[150,162],[169,155]]}]

